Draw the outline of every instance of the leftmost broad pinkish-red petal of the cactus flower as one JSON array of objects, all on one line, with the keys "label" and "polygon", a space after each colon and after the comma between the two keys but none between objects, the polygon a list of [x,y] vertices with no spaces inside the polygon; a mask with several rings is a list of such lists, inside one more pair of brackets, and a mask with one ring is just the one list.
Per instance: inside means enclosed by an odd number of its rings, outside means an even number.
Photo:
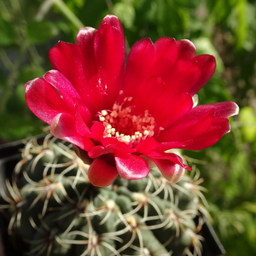
[{"label": "leftmost broad pinkish-red petal of the cactus flower", "polygon": [[26,103],[39,119],[50,124],[55,115],[69,112],[67,102],[44,79],[33,79],[25,84]]}]

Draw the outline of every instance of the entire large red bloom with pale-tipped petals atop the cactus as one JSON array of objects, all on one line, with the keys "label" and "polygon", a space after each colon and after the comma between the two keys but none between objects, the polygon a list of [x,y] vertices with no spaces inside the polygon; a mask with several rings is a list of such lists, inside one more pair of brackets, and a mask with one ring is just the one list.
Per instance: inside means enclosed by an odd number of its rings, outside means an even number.
[{"label": "entire large red bloom with pale-tipped petals atop the cactus", "polygon": [[76,44],[49,51],[54,70],[26,83],[26,102],[50,132],[73,143],[90,160],[88,176],[108,186],[119,175],[146,177],[148,160],[177,182],[190,170],[171,148],[199,150],[230,131],[234,102],[193,107],[193,96],[215,70],[212,55],[195,55],[188,40],[144,38],[125,63],[125,38],[117,17],[99,29],[79,30]]}]

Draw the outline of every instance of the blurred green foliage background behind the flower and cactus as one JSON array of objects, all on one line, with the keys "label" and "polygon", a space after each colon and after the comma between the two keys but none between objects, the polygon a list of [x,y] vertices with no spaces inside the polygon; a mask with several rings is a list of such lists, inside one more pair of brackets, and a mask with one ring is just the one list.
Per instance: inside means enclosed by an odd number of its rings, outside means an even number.
[{"label": "blurred green foliage background behind the flower and cactus", "polygon": [[186,151],[207,187],[212,225],[228,256],[256,252],[256,2],[251,0],[0,0],[0,141],[30,137],[44,124],[24,100],[24,84],[48,71],[48,51],[74,42],[81,26],[117,15],[127,49],[141,38],[188,38],[218,68],[199,103],[235,101],[240,115],[212,148]]}]

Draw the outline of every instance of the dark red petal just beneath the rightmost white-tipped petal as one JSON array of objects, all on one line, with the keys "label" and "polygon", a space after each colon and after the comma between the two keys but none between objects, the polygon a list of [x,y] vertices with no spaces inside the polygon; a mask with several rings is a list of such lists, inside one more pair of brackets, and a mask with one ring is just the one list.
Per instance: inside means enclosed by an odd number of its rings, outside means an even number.
[{"label": "dark red petal just beneath the rightmost white-tipped petal", "polygon": [[195,137],[193,143],[184,148],[190,150],[209,148],[217,143],[219,139],[228,132],[230,132],[230,123],[228,119],[214,119],[208,131],[199,137]]}]

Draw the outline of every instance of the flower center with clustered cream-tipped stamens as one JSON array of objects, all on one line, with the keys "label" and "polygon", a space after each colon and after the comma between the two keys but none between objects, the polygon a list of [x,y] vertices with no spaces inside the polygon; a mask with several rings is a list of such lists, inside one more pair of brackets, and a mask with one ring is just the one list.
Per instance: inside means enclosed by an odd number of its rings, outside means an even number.
[{"label": "flower center with clustered cream-tipped stamens", "polygon": [[[125,98],[125,102],[131,98]],[[126,144],[136,145],[146,137],[154,136],[155,122],[148,110],[143,114],[132,114],[131,107],[113,104],[113,110],[102,110],[99,119],[105,126],[104,137],[116,137]]]}]

